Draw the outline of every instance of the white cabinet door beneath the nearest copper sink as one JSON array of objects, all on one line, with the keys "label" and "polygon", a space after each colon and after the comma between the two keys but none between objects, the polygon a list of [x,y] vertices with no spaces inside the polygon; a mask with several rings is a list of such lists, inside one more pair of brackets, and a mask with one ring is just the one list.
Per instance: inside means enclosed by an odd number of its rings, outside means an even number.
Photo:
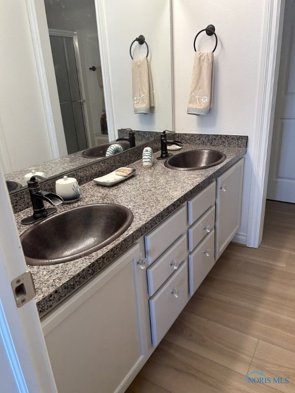
[{"label": "white cabinet door beneath the nearest copper sink", "polygon": [[42,321],[59,393],[121,392],[143,365],[139,255],[136,244]]}]

